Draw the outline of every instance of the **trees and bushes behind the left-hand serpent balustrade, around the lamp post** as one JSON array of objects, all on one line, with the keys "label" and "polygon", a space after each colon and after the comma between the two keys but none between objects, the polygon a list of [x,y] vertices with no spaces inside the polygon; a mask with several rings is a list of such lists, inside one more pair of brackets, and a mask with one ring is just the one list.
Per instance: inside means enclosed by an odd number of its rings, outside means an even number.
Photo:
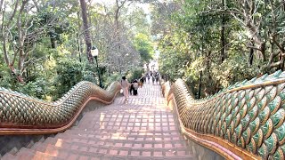
[{"label": "trees and bushes behind the left-hand serpent balustrade, around the lamp post", "polygon": [[[141,57],[150,58],[146,54],[151,52],[150,36],[134,40],[138,32],[129,28],[137,24],[127,19],[137,13],[127,7],[135,4],[116,2],[0,0],[0,86],[56,100],[79,81],[98,83],[96,68],[85,56],[90,47],[83,47],[91,43],[99,49],[105,86],[140,68]],[[145,21],[144,16],[136,17],[139,24]]]}]

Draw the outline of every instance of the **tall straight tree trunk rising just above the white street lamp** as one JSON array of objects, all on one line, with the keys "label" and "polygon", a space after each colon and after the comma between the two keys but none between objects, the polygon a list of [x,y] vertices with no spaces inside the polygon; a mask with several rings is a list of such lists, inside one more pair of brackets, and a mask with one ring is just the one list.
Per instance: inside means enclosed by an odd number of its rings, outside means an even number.
[{"label": "tall straight tree trunk rising just above the white street lamp", "polygon": [[86,44],[86,56],[90,63],[93,63],[93,57],[91,55],[91,37],[89,32],[89,24],[87,19],[87,12],[86,12],[86,3],[85,0],[80,0],[81,12],[82,12],[82,20],[85,32],[85,44]]}]

